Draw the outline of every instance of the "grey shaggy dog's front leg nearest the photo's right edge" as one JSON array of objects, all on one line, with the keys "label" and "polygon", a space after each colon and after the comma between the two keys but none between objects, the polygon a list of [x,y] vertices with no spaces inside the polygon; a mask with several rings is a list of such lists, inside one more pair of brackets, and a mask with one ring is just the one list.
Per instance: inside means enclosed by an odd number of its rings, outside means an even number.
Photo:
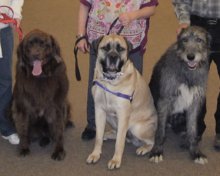
[{"label": "grey shaggy dog's front leg nearest the photo's right edge", "polygon": [[[195,104],[199,104],[198,102]],[[189,141],[189,152],[195,163],[206,164],[207,157],[200,151],[197,140],[197,106],[190,106],[187,111],[187,137]]]}]

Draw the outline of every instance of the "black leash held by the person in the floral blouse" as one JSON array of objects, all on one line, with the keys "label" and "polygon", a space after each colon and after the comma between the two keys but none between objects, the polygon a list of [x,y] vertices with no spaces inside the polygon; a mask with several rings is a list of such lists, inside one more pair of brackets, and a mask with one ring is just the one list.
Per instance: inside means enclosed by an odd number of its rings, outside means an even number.
[{"label": "black leash held by the person in the floral blouse", "polygon": [[[114,25],[117,23],[118,21],[118,17],[112,22],[111,26],[109,27],[109,31],[107,33],[107,35],[109,35],[110,31],[112,30],[112,28],[114,27]],[[119,35],[121,33],[121,31],[124,29],[124,26],[121,26],[120,29],[118,30],[117,34]],[[76,42],[75,42],[75,45],[74,45],[74,56],[75,56],[75,76],[76,76],[76,79],[77,81],[80,81],[81,80],[81,74],[80,74],[80,71],[79,71],[79,64],[78,64],[78,47],[77,47],[77,44],[81,41],[85,39],[87,44],[89,44],[88,42],[88,38],[84,35],[82,37],[79,37]]]}]

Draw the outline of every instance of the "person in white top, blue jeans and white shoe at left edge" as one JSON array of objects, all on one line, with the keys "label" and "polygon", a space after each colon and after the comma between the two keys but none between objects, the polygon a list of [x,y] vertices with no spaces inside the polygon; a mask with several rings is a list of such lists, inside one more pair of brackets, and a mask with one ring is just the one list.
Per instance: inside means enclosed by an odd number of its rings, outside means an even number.
[{"label": "person in white top, blue jeans and white shoe at left edge", "polygon": [[[9,13],[8,6],[14,11],[13,18],[20,26],[21,11],[24,0],[1,0],[0,11]],[[7,14],[11,15],[11,14]],[[1,18],[1,17],[0,17]],[[19,144],[19,137],[15,128],[6,117],[6,109],[12,98],[12,55],[13,55],[13,30],[11,25],[0,23],[0,132],[4,139],[11,144]]]}]

